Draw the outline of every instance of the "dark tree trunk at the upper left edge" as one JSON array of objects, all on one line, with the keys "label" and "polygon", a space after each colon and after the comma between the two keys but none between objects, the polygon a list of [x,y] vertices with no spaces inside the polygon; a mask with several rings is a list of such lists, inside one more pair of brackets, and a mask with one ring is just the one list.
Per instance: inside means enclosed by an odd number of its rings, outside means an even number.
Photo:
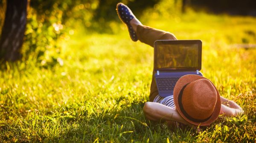
[{"label": "dark tree trunk at the upper left edge", "polygon": [[16,61],[26,28],[27,0],[7,0],[6,17],[0,39],[0,59]]}]

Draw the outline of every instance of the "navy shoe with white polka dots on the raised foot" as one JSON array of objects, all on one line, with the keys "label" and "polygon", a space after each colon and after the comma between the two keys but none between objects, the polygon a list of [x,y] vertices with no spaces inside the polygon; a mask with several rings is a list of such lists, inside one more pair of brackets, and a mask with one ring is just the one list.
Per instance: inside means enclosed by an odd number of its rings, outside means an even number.
[{"label": "navy shoe with white polka dots on the raised foot", "polygon": [[135,33],[134,29],[131,27],[130,24],[130,21],[135,17],[134,14],[131,12],[131,9],[128,8],[128,6],[125,6],[123,3],[118,3],[116,5],[116,12],[119,19],[127,25],[131,39],[133,41],[137,41],[137,34]]}]

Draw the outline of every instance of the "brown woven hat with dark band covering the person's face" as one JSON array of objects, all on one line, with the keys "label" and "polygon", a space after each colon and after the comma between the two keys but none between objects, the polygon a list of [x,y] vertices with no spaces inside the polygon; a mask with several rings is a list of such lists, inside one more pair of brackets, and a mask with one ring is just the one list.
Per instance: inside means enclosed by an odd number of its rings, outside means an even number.
[{"label": "brown woven hat with dark band covering the person's face", "polygon": [[181,117],[197,126],[209,125],[218,118],[221,111],[218,90],[203,76],[182,76],[174,87],[173,97]]}]

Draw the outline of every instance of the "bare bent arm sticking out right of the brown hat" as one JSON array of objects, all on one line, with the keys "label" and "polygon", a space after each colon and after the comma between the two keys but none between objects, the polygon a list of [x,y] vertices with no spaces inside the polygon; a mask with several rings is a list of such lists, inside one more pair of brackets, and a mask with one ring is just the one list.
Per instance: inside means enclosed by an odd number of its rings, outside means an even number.
[{"label": "bare bent arm sticking out right of the brown hat", "polygon": [[[228,107],[229,106],[229,107]],[[221,96],[221,112],[220,115],[236,116],[243,114],[244,110],[234,101],[230,101]]]}]

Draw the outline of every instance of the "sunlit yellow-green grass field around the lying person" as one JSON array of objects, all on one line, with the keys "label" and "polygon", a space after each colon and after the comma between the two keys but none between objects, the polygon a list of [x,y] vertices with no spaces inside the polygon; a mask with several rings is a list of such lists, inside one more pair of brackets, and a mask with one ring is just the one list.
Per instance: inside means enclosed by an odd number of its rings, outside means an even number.
[{"label": "sunlit yellow-green grass field around the lying person", "polygon": [[125,25],[114,34],[79,28],[61,44],[59,64],[6,63],[0,71],[0,142],[256,142],[256,18],[191,13],[144,16],[142,22],[178,39],[201,39],[201,72],[244,115],[219,117],[196,133],[169,129],[143,115],[149,100],[153,48],[132,42]]}]

